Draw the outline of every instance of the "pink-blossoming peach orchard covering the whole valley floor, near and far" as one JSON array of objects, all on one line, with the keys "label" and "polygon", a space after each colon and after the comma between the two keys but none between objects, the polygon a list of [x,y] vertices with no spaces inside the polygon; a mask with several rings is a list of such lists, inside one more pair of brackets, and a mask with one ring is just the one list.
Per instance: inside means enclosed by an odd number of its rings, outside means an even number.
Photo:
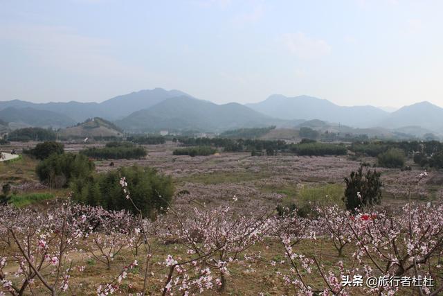
[{"label": "pink-blossoming peach orchard covering the whole valley floor, near and far", "polygon": [[[0,207],[0,295],[441,295],[438,171],[382,171],[381,206],[316,202],[309,216],[277,204],[336,184],[347,157],[174,156],[136,162],[172,175],[177,194],[155,220],[75,204]],[[128,204],[127,182],[120,180]],[[317,192],[317,191],[315,191]],[[328,200],[329,196],[321,197]]]}]

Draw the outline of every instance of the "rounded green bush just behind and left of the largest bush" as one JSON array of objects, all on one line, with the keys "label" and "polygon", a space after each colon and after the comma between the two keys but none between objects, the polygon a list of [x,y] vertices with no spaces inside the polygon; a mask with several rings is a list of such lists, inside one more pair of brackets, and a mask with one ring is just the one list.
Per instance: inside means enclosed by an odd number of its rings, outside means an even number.
[{"label": "rounded green bush just behind and left of the largest bush", "polygon": [[84,179],[91,175],[93,162],[81,154],[52,154],[35,168],[39,180],[52,188],[62,188],[74,178]]}]

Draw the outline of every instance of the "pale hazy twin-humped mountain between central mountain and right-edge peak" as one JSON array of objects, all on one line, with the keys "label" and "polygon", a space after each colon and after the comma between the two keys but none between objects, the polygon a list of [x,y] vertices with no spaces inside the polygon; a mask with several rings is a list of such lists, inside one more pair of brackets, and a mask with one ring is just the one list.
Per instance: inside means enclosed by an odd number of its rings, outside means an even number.
[{"label": "pale hazy twin-humped mountain between central mountain and right-edge peak", "polygon": [[260,103],[246,104],[246,106],[280,119],[320,119],[355,127],[367,127],[388,116],[388,112],[377,107],[343,107],[312,96],[288,98],[275,94]]}]

